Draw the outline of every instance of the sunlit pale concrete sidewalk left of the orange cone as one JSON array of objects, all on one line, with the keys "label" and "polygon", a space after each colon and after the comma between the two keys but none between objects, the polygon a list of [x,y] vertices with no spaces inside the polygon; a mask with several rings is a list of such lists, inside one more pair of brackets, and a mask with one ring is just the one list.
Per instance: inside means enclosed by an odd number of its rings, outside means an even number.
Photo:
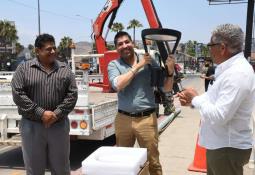
[{"label": "sunlit pale concrete sidewalk left of the orange cone", "polygon": [[[185,85],[184,85],[185,86]],[[196,78],[188,86],[203,92],[203,81]],[[176,100],[178,105],[178,102]],[[164,175],[206,175],[188,171],[195,152],[200,115],[197,110],[181,107],[181,114],[162,133],[159,142],[160,161]],[[255,175],[254,169],[244,168],[244,175]]]}]

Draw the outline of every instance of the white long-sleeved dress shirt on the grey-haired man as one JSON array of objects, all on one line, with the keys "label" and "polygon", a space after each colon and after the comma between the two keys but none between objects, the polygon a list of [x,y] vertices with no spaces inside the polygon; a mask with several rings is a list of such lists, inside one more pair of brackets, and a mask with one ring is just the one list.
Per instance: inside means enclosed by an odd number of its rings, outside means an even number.
[{"label": "white long-sleeved dress shirt on the grey-haired man", "polygon": [[193,98],[201,114],[199,144],[207,149],[252,148],[252,111],[255,74],[243,56],[236,54],[219,64],[215,82],[208,91]]}]

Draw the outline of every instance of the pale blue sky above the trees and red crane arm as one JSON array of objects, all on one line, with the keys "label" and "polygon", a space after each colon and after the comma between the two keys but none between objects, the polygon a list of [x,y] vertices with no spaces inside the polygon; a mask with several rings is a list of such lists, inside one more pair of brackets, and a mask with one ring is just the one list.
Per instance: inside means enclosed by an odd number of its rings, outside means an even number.
[{"label": "pale blue sky above the trees and red crane arm", "polygon": [[[96,19],[106,0],[40,0],[41,32],[64,36],[75,42],[90,41],[91,19]],[[207,0],[154,0],[163,27],[182,32],[181,42],[196,40],[207,43],[211,31],[222,23],[240,25],[245,32],[247,4],[210,5]],[[149,27],[140,0],[125,0],[115,22],[125,26],[138,19]],[[37,0],[1,0],[0,19],[15,21],[19,42],[33,44],[38,34]],[[139,29],[136,38],[140,38]],[[132,34],[132,30],[128,31]],[[110,33],[108,40],[112,40]]]}]

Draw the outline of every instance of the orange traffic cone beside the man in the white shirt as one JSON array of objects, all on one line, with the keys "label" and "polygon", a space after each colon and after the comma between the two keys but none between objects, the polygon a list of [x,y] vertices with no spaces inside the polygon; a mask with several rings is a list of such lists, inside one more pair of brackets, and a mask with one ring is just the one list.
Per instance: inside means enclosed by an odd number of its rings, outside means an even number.
[{"label": "orange traffic cone beside the man in the white shirt", "polygon": [[198,145],[198,138],[199,137],[197,137],[194,160],[188,170],[206,173],[206,149]]}]

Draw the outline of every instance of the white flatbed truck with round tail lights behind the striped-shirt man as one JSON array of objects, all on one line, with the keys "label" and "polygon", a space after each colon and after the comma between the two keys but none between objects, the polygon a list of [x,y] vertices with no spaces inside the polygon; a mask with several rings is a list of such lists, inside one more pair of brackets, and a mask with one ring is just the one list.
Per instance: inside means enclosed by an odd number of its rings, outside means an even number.
[{"label": "white flatbed truck with round tail lights behind the striped-shirt man", "polygon": [[[19,145],[20,139],[17,136],[21,116],[12,100],[12,74],[0,72],[0,144]],[[90,78],[95,81],[94,76]],[[115,93],[102,93],[98,88],[89,88],[90,78],[86,71],[77,71],[78,101],[68,116],[70,136],[75,139],[103,140],[114,134],[117,96]]]}]

